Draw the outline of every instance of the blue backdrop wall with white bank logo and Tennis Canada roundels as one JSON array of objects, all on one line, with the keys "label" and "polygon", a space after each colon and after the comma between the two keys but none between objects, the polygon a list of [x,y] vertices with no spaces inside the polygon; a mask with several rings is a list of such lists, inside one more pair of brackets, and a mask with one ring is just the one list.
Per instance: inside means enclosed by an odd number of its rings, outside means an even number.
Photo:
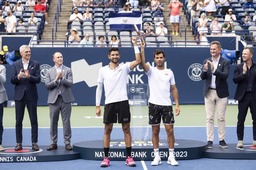
[{"label": "blue backdrop wall with white bank logo and Tennis Canada roundels", "polygon": [[[146,48],[146,62],[155,66],[153,52],[157,48]],[[174,72],[176,86],[179,92],[180,104],[204,104],[203,84],[200,73],[203,61],[211,57],[210,48],[161,48],[165,51],[165,67]],[[38,105],[46,106],[48,91],[45,89],[45,73],[54,66],[52,54],[59,51],[63,55],[63,64],[72,68],[73,87],[75,98],[73,105],[95,105],[95,93],[97,88],[98,72],[102,66],[109,64],[108,48],[31,48],[32,59],[40,63],[41,82],[38,88]],[[119,48],[120,62],[126,63],[135,60],[133,48]],[[233,83],[233,70],[230,67],[228,78],[230,99],[233,99],[236,85]],[[14,85],[11,84],[12,66],[6,65],[5,83],[9,100],[13,100]],[[140,66],[128,75],[128,84],[147,84],[148,77]],[[105,101],[104,93],[101,104]]]}]

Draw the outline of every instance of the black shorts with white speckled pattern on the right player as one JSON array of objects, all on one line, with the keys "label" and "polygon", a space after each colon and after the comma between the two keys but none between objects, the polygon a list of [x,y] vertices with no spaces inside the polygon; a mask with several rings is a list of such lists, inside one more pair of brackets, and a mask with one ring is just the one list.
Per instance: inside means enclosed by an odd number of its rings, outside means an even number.
[{"label": "black shorts with white speckled pattern on the right player", "polygon": [[148,118],[150,125],[159,125],[161,123],[161,117],[163,124],[172,125],[174,124],[174,115],[172,106],[160,106],[157,104],[149,103],[148,106]]}]

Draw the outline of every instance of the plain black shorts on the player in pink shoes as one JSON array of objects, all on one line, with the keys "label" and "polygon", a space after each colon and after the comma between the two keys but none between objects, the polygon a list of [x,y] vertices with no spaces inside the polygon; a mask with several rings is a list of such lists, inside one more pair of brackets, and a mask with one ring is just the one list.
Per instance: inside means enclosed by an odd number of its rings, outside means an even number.
[{"label": "plain black shorts on the player in pink shoes", "polygon": [[104,107],[103,123],[110,124],[131,122],[130,105],[128,100],[108,103]]}]

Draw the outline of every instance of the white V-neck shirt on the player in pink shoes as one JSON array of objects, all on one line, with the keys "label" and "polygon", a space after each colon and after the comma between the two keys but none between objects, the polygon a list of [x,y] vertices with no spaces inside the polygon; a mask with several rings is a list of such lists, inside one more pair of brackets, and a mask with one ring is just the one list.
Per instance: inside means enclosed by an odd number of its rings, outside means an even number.
[{"label": "white V-neck shirt on the player in pink shoes", "polygon": [[130,63],[119,64],[116,69],[110,65],[101,67],[97,82],[104,84],[105,104],[128,100],[127,97],[127,75],[130,70]]}]

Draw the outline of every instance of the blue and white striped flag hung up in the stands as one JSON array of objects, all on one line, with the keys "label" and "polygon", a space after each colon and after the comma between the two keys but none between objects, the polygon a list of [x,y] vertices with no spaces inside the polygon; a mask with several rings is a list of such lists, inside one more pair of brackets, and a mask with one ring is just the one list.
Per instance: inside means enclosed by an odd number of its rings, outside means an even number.
[{"label": "blue and white striped flag hung up in the stands", "polygon": [[134,24],[137,25],[138,29],[142,29],[142,13],[113,13],[108,15],[108,21],[110,24],[110,29],[122,30],[122,29],[132,29],[135,30]]}]

